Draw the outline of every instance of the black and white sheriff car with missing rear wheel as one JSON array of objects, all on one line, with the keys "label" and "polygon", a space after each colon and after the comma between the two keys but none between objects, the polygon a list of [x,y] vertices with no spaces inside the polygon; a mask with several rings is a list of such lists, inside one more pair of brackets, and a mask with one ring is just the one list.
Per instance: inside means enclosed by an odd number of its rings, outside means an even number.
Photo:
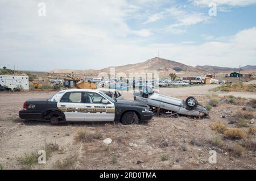
[{"label": "black and white sheriff car with missing rear wheel", "polygon": [[26,120],[121,121],[134,124],[150,120],[153,113],[144,103],[114,100],[99,90],[71,89],[57,92],[49,99],[29,99],[24,102],[19,117]]}]

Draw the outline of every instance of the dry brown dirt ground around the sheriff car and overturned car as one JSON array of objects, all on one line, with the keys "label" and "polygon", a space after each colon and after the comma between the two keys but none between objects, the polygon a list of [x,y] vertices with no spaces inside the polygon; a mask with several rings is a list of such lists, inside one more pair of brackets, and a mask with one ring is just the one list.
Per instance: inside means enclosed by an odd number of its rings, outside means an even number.
[{"label": "dry brown dirt ground around the sheriff car and overturned car", "polygon": [[[244,149],[234,155],[228,146],[241,144],[241,140],[222,137],[222,146],[209,140],[216,136],[209,125],[223,121],[228,128],[234,120],[232,114],[241,110],[255,93],[209,92],[217,85],[204,85],[173,89],[160,89],[161,94],[185,99],[193,95],[205,106],[209,99],[220,101],[210,111],[209,119],[189,117],[153,117],[149,123],[122,125],[120,123],[67,123],[51,125],[48,121],[20,120],[18,112],[23,102],[31,98],[46,98],[54,91],[31,91],[0,94],[0,166],[3,169],[256,169],[255,149]],[[131,93],[123,92],[126,99]],[[239,104],[222,102],[225,95],[242,97]],[[255,109],[254,109],[255,113]],[[254,117],[255,119],[255,117]],[[255,128],[254,119],[250,127]],[[247,131],[247,128],[240,128]],[[78,131],[85,131],[89,141],[77,141]],[[102,141],[111,138],[107,145]],[[251,138],[255,141],[255,135]],[[52,143],[58,146],[47,158],[46,164],[20,162]],[[241,144],[242,145],[242,144]],[[209,150],[217,151],[217,163],[210,164]]]}]

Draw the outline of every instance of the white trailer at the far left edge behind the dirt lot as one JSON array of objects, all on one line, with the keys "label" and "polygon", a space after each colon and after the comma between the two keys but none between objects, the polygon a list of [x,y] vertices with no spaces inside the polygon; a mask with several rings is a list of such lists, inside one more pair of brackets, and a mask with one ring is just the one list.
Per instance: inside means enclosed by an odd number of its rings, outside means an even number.
[{"label": "white trailer at the far left edge behind the dirt lot", "polygon": [[23,90],[29,90],[28,76],[0,75],[0,84],[12,90],[15,87],[22,87]]}]

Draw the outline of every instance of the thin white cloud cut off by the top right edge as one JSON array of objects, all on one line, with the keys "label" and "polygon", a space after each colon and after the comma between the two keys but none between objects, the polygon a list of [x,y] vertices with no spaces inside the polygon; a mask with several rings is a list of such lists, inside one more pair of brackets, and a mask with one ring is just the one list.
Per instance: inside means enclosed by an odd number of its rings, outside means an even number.
[{"label": "thin white cloud cut off by the top right edge", "polygon": [[209,3],[215,2],[217,5],[228,6],[249,6],[256,4],[256,0],[190,0],[196,6],[208,6]]}]

